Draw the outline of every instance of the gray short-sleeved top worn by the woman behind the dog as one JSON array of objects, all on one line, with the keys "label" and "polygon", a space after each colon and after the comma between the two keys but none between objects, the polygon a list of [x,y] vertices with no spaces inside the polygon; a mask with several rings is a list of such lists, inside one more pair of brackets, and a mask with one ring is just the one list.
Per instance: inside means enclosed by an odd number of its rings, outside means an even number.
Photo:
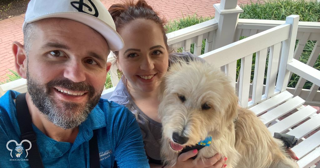
[{"label": "gray short-sleeved top worn by the woman behind the dog", "polygon": [[[190,59],[202,60],[201,58],[189,52],[171,53],[169,58],[169,66],[170,63],[174,62],[174,60],[176,60],[177,58],[182,58],[183,60],[187,61],[189,61]],[[117,84],[116,89],[113,91],[111,97],[109,98],[109,101],[114,101],[129,108],[129,110],[136,116],[139,123],[147,155],[152,159],[161,160],[160,146],[162,125],[161,123],[158,123],[155,120],[149,118],[143,111],[140,110],[140,108],[132,100],[131,95],[124,85],[123,78],[121,78],[121,80]]]}]

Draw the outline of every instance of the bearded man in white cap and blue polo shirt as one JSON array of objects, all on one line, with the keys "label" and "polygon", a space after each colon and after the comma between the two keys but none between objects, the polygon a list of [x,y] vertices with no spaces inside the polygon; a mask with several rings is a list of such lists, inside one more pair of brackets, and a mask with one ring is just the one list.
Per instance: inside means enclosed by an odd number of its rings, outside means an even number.
[{"label": "bearded man in white cap and blue polo shirt", "polygon": [[31,0],[23,32],[12,51],[28,92],[0,98],[0,167],[149,167],[135,117],[100,99],[107,56],[124,45],[103,4]]}]

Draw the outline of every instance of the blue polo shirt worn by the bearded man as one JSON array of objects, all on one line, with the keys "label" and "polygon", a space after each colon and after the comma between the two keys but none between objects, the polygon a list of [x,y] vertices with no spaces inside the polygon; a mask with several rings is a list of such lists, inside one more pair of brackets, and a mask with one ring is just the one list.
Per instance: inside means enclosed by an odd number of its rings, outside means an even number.
[{"label": "blue polo shirt worn by the bearded man", "polygon": [[[20,94],[8,91],[0,98],[0,167],[30,167],[26,158],[26,150],[20,157],[15,148],[20,143],[20,128],[16,118],[13,99]],[[119,104],[100,99],[88,118],[79,126],[74,143],[59,142],[49,138],[35,125],[37,146],[44,167],[90,167],[89,140],[93,130],[97,130],[100,167],[113,167],[117,162],[120,168],[149,167],[139,125],[132,113]],[[7,142],[10,142],[7,149]],[[10,155],[12,154],[12,156]],[[28,159],[33,159],[28,156]]]}]

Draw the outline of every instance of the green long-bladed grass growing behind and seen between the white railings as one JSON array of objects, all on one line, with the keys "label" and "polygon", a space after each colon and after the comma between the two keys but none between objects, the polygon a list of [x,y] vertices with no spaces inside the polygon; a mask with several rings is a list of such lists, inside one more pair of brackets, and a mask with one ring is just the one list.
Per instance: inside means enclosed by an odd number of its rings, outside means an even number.
[{"label": "green long-bladed grass growing behind and seen between the white railings", "polygon": [[[274,1],[258,1],[257,3],[247,4],[247,5],[240,5],[240,7],[244,10],[243,13],[240,14],[239,18],[242,19],[265,19],[265,20],[285,20],[285,18],[291,14],[300,15],[300,21],[313,21],[319,22],[320,21],[320,3],[316,1],[308,1],[308,0],[274,0]],[[201,17],[197,16],[196,14],[190,15],[187,17],[180,18],[178,20],[171,20],[169,21],[165,29],[167,33],[187,28],[189,26],[207,21],[212,19],[213,17]],[[245,38],[245,37],[241,37]],[[302,54],[300,57],[300,61],[306,63],[308,58],[311,54],[311,51],[315,45],[315,41],[308,41]],[[204,46],[205,40],[203,41],[202,45],[202,52],[204,53]],[[194,51],[194,44],[191,45],[190,52],[193,53]],[[176,52],[182,52],[182,48],[178,48]],[[267,58],[268,59],[268,58]],[[268,62],[268,60],[267,60]],[[255,53],[253,54],[252,58],[252,71],[254,70],[255,64]],[[320,70],[320,62],[319,59],[316,61],[314,68]],[[237,61],[237,74],[240,70],[240,60]],[[266,71],[267,73],[267,67]],[[15,78],[14,75],[7,75],[9,79],[7,81],[11,81]],[[253,74],[252,74],[253,78]],[[292,75],[292,78],[288,84],[288,87],[295,87],[296,83],[299,80],[299,76],[296,74]],[[312,86],[312,83],[306,82],[303,88],[309,89]],[[112,87],[111,78],[108,74],[107,80],[105,83],[106,88]]]}]

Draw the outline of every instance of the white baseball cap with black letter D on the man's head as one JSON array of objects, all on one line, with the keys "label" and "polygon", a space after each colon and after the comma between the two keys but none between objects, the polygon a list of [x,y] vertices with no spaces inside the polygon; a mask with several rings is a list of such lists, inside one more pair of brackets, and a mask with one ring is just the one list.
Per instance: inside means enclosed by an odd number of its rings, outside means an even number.
[{"label": "white baseball cap with black letter D on the man's head", "polygon": [[100,0],[31,0],[22,30],[28,23],[45,18],[66,18],[81,22],[99,32],[111,51],[119,51],[124,42],[116,25]]}]

